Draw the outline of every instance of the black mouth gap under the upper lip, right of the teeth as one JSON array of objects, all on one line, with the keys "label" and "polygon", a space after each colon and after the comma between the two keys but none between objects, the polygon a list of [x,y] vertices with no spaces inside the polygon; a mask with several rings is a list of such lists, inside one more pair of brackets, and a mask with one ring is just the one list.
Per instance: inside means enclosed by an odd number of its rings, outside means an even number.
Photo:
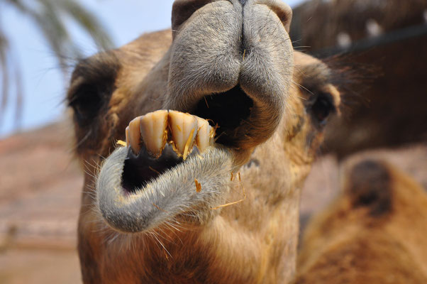
[{"label": "black mouth gap under the upper lip, right of the teeth", "polygon": [[202,98],[192,114],[209,120],[212,126],[218,125],[216,143],[224,146],[237,146],[235,130],[248,121],[253,100],[236,86],[227,92],[211,94]]}]

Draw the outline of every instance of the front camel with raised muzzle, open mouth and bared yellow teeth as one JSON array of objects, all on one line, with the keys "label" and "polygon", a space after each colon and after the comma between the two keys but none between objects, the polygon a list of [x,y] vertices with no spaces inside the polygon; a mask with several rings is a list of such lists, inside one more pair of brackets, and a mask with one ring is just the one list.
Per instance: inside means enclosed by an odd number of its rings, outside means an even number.
[{"label": "front camel with raised muzzle, open mouth and bared yellow teeth", "polygon": [[179,0],[172,33],[77,65],[84,283],[292,278],[301,184],[340,94],[294,52],[291,16],[281,1]]}]

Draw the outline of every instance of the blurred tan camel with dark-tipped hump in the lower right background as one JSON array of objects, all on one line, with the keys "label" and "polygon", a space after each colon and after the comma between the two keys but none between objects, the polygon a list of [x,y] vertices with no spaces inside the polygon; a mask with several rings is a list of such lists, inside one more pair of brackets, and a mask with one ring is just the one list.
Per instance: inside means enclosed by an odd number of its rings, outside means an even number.
[{"label": "blurred tan camel with dark-tipped hump in the lower right background", "polygon": [[353,158],[343,192],[309,224],[295,284],[427,283],[427,195],[382,160]]}]

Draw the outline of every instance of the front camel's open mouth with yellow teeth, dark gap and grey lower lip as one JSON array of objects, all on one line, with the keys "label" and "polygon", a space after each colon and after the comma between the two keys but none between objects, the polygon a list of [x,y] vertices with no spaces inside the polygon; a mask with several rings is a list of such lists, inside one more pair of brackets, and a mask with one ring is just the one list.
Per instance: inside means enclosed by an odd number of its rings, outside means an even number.
[{"label": "front camel's open mouth with yellow teeth, dark gap and grey lower lip", "polygon": [[106,158],[96,180],[106,223],[122,232],[149,231],[179,214],[223,204],[253,105],[236,86],[202,97],[188,113],[161,109],[133,119],[126,147]]}]

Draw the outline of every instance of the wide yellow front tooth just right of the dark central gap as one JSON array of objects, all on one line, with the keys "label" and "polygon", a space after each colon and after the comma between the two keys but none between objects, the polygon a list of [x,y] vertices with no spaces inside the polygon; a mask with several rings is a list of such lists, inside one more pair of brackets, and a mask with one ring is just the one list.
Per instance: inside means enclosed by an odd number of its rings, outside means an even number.
[{"label": "wide yellow front tooth just right of the dark central gap", "polygon": [[172,134],[172,146],[184,160],[191,153],[197,134],[197,119],[191,114],[169,111],[169,126]]}]

